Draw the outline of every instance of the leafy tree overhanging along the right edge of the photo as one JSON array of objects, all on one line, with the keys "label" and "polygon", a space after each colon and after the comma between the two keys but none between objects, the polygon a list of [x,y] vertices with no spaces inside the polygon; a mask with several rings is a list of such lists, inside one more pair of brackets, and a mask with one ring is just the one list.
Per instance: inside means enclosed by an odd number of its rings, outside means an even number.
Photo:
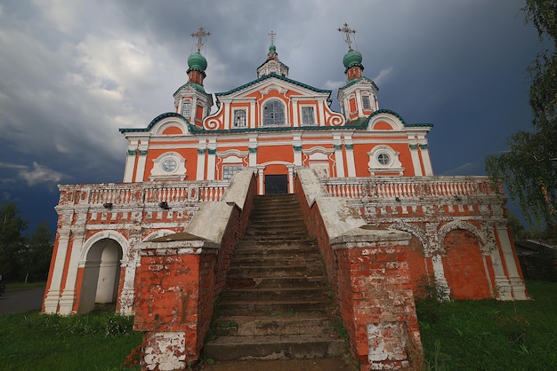
[{"label": "leafy tree overhanging along the right edge of the photo", "polygon": [[531,224],[557,225],[557,0],[526,0],[525,23],[548,47],[530,65],[532,130],[508,140],[509,151],[486,158],[490,177],[507,186]]}]

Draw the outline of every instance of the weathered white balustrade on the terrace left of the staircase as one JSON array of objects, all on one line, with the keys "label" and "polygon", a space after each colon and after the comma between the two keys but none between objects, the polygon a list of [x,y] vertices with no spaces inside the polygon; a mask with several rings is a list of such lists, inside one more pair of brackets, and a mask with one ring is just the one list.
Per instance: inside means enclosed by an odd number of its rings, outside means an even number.
[{"label": "weathered white balustrade on the terrace left of the staircase", "polygon": [[229,181],[62,185],[60,205],[221,201]]}]

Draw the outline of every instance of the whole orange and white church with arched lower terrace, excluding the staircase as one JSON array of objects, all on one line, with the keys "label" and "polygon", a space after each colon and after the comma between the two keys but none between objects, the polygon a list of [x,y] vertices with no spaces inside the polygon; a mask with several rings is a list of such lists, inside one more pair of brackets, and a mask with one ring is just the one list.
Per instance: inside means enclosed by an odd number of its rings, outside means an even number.
[{"label": "whole orange and white church with arched lower terrace, excluding the staircase", "polygon": [[120,129],[128,142],[123,182],[60,186],[43,311],[116,303],[133,313],[142,247],[187,231],[204,203],[226,199],[241,170],[252,171],[258,195],[296,193],[300,169],[312,170],[327,196],[350,201],[367,225],[409,233],[415,293],[427,280],[456,299],[527,298],[501,194],[485,177],[433,175],[432,124],[380,108],[362,54],[351,48],[353,31],[340,30],[348,51],[338,56],[346,83],[335,112],[333,91],[288,77],[272,33],[253,81],[207,92],[208,34],[200,28],[172,112]]}]

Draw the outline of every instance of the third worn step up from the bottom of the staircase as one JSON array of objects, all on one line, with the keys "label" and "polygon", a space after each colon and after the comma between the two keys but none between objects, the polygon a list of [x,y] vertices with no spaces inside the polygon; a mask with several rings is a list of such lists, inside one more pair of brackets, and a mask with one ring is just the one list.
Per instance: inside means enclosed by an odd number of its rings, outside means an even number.
[{"label": "third worn step up from the bottom of the staircase", "polygon": [[224,316],[253,316],[253,315],[285,315],[305,313],[332,313],[335,305],[327,298],[266,300],[262,302],[248,302],[243,300],[225,300],[219,303],[219,314]]}]

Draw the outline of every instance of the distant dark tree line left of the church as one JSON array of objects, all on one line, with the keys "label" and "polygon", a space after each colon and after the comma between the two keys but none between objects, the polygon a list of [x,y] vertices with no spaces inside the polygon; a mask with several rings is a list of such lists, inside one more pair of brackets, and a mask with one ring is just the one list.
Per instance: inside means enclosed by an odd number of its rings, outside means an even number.
[{"label": "distant dark tree line left of the church", "polygon": [[53,234],[46,222],[26,233],[28,220],[20,217],[14,201],[0,204],[0,274],[4,280],[46,280],[52,257]]}]

